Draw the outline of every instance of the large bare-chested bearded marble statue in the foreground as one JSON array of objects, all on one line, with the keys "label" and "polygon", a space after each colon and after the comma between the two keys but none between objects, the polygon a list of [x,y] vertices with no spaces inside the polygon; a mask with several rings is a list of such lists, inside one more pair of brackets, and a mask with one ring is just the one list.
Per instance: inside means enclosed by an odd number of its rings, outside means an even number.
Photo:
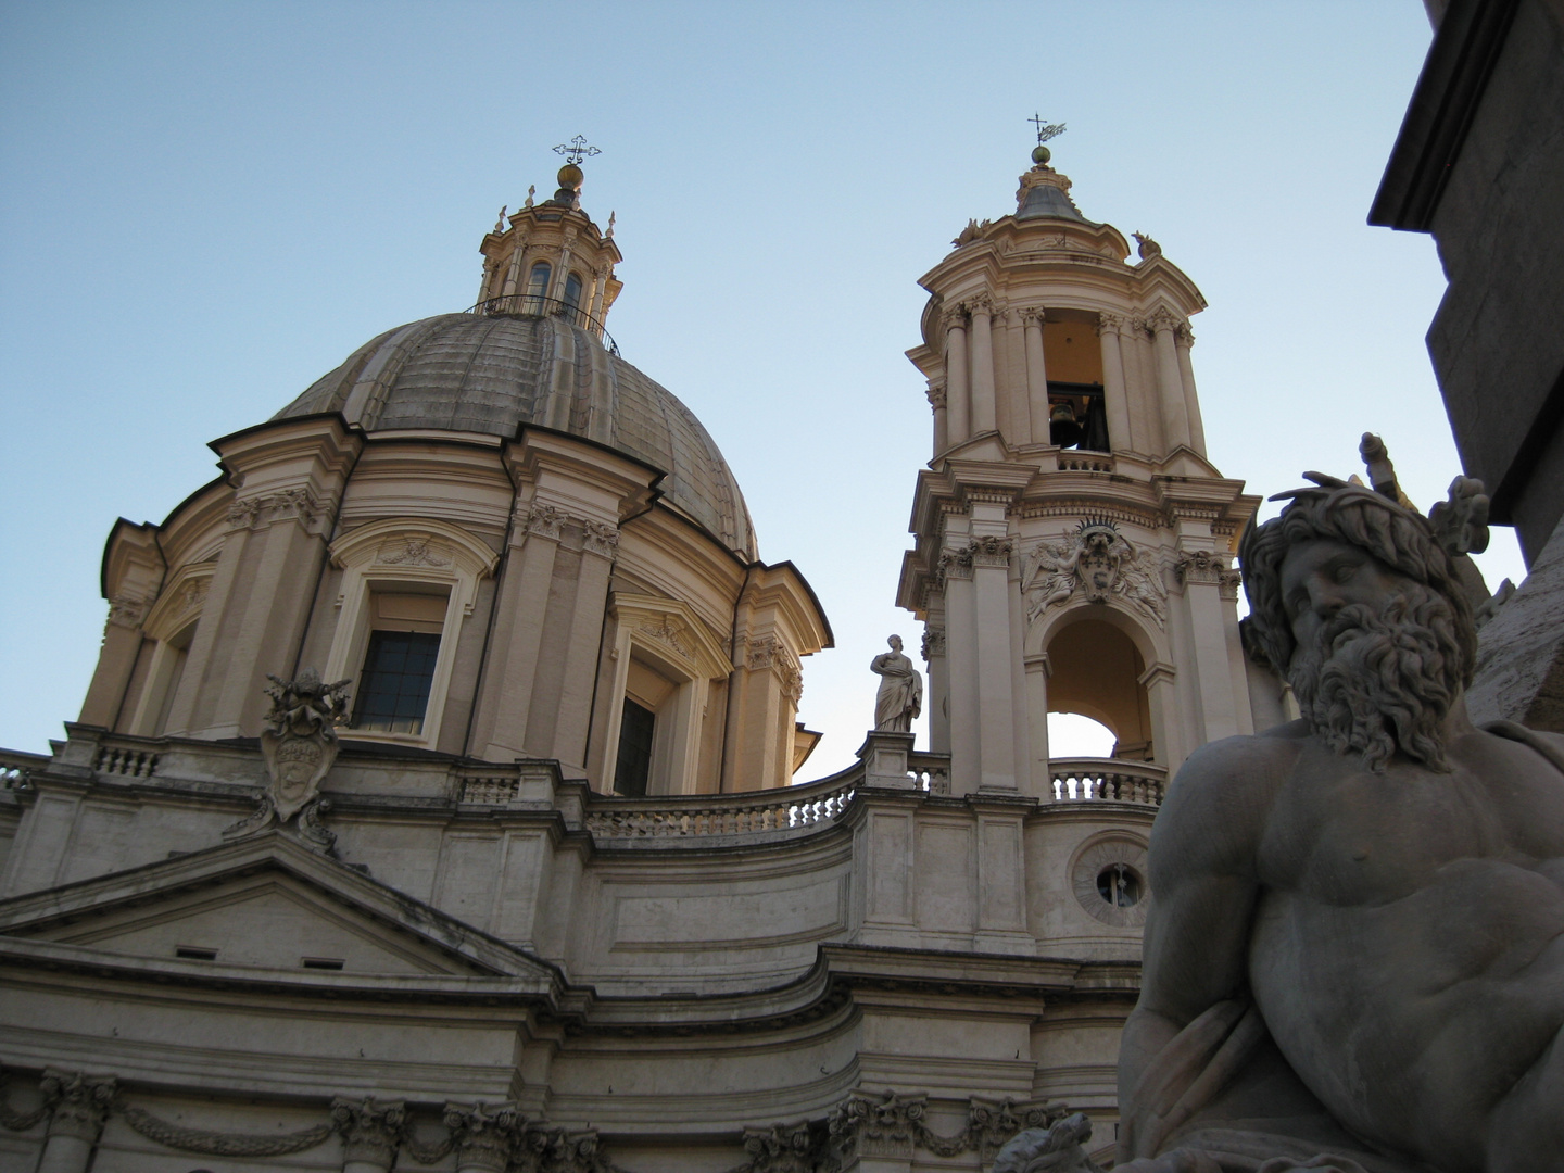
[{"label": "large bare-chested bearded marble statue in the foreground", "polygon": [[1157,816],[1115,1168],[1564,1170],[1564,737],[1467,718],[1440,527],[1309,477],[1240,549],[1304,716]]}]

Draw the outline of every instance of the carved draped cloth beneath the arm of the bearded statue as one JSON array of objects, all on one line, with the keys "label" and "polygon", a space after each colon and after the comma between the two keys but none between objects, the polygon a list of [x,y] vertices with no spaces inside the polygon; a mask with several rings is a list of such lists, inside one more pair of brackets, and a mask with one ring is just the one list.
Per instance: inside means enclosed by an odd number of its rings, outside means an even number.
[{"label": "carved draped cloth beneath the arm of the bearded statue", "polygon": [[1248,1001],[1217,1003],[1179,1031],[1125,1104],[1117,1168],[1132,1173],[1132,1157],[1176,1150],[1207,1156],[1221,1173],[1262,1167],[1265,1173],[1422,1173],[1420,1165],[1379,1156],[1342,1129],[1282,1059]]}]

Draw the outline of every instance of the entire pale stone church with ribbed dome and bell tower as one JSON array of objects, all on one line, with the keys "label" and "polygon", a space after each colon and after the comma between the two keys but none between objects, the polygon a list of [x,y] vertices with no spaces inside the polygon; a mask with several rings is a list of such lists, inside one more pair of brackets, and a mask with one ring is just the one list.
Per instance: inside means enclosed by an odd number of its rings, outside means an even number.
[{"label": "entire pale stone church with ribbed dome and bell tower", "polygon": [[0,1167],[976,1170],[1065,1104],[1110,1150],[1164,780],[1282,702],[1200,294],[1046,167],[963,233],[913,352],[934,744],[787,787],[830,629],[618,357],[579,185],[111,533],[81,718],[5,759]]}]

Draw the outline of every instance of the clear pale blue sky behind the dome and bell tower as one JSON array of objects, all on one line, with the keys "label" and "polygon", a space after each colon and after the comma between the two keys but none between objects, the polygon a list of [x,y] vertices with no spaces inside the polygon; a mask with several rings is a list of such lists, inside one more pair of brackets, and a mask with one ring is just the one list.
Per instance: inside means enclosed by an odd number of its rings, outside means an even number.
[{"label": "clear pale blue sky behind the dome and bell tower", "polygon": [[[0,744],[75,716],[114,518],[163,519],[206,441],[468,307],[496,211],[576,133],[626,255],[610,330],[835,626],[809,776],[871,724],[885,635],[917,646],[915,282],[1013,210],[1034,111],[1070,127],[1081,210],[1206,294],[1218,468],[1275,493],[1375,430],[1426,507],[1458,472],[1423,349],[1444,282],[1364,217],[1428,41],[1417,0],[0,5]],[[1508,532],[1484,566],[1519,579]]]}]

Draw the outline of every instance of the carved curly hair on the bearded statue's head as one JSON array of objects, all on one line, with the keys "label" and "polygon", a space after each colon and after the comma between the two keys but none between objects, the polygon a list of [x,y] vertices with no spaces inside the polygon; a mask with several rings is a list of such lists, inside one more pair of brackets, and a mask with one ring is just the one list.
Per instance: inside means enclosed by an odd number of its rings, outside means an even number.
[{"label": "carved curly hair on the bearded statue's head", "polygon": [[1250,597],[1250,633],[1276,671],[1287,673],[1295,651],[1292,622],[1281,597],[1281,561],[1293,543],[1326,538],[1367,551],[1448,601],[1461,651],[1461,685],[1470,685],[1476,662],[1472,604],[1450,552],[1428,518],[1364,485],[1314,472],[1306,475],[1322,483],[1278,493],[1272,500],[1290,497],[1287,508],[1264,526],[1250,522],[1239,544],[1243,590]]}]

